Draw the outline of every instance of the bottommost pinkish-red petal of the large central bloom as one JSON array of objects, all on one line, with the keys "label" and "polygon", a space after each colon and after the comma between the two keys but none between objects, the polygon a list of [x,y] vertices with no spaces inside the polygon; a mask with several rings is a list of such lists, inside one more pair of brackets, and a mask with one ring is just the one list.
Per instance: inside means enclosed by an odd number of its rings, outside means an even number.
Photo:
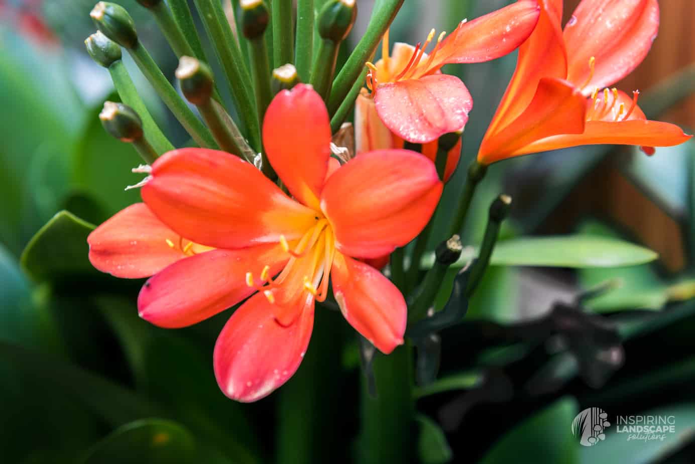
[{"label": "bottommost pinkish-red petal of the large central bloom", "polygon": [[261,399],[297,370],[313,328],[313,297],[309,295],[291,326],[275,322],[272,304],[254,295],[229,318],[215,344],[213,364],[220,389],[231,399]]}]

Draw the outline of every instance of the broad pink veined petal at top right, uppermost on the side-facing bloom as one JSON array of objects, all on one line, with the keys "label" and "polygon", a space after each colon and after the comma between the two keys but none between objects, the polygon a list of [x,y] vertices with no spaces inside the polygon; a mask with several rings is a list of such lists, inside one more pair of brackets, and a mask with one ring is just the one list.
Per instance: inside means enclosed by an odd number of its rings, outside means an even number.
[{"label": "broad pink veined petal at top right, uppermost on the side-facing bloom", "polygon": [[[627,76],[651,49],[659,28],[657,0],[583,0],[564,30],[567,79],[587,97]],[[589,59],[595,58],[591,76]],[[590,78],[591,77],[591,78]]]}]

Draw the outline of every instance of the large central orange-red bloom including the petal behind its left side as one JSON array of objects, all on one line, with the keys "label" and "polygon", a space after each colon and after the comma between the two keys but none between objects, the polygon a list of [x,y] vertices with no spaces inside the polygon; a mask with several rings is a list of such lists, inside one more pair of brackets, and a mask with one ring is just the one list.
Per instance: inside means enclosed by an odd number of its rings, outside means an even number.
[{"label": "large central orange-red bloom including the petal behind its left side", "polygon": [[88,238],[97,269],[154,274],[138,310],[158,326],[195,324],[248,298],[213,356],[232,399],[260,399],[297,370],[329,279],[359,333],[387,354],[403,342],[403,296],[356,258],[389,254],[415,238],[443,185],[434,164],[413,151],[373,151],[338,167],[330,143],[321,97],[302,84],[284,90],[268,107],[263,145],[292,197],[226,152],[174,150],[152,165],[145,203]]}]

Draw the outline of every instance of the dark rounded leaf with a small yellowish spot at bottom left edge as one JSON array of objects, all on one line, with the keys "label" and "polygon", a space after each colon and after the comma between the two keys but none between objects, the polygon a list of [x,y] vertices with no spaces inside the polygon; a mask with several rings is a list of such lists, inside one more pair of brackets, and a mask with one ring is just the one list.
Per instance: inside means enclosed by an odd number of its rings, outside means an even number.
[{"label": "dark rounded leaf with a small yellowish spot at bottom left edge", "polygon": [[93,447],[83,464],[195,463],[195,440],[176,422],[138,420],[116,429]]}]

